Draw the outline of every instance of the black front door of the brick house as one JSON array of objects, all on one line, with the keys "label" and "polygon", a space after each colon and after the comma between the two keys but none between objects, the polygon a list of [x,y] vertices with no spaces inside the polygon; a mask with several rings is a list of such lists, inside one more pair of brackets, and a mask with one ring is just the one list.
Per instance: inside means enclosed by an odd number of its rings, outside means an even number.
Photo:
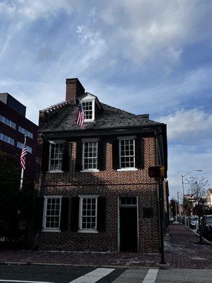
[{"label": "black front door of the brick house", "polygon": [[120,207],[120,251],[137,252],[137,208]]}]

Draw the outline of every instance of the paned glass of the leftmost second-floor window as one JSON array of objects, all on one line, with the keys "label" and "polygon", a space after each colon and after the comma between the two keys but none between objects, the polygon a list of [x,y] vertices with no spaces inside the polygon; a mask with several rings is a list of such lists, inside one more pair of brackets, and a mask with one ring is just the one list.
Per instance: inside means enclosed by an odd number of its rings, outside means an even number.
[{"label": "paned glass of the leftmost second-floor window", "polygon": [[61,171],[64,144],[51,143],[49,171]]}]

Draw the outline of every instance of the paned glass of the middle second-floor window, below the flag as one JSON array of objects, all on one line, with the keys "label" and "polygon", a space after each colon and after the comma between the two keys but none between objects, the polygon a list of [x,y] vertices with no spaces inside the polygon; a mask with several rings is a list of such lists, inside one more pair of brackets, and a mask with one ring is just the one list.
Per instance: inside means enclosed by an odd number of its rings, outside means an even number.
[{"label": "paned glass of the middle second-floor window, below the flag", "polygon": [[98,141],[85,141],[83,154],[83,169],[97,169]]}]

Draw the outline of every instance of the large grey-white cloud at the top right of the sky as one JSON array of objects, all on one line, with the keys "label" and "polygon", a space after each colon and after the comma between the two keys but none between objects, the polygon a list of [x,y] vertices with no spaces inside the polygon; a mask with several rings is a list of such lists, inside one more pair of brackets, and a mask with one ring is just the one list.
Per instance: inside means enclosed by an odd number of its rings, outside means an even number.
[{"label": "large grey-white cloud at the top right of the sky", "polygon": [[[99,8],[100,18],[109,28],[107,40],[120,47],[122,56],[136,63],[152,61],[175,64],[184,45],[208,36],[202,27],[203,17],[209,17],[211,3],[196,1],[111,1]],[[163,65],[161,66],[164,67]]]}]

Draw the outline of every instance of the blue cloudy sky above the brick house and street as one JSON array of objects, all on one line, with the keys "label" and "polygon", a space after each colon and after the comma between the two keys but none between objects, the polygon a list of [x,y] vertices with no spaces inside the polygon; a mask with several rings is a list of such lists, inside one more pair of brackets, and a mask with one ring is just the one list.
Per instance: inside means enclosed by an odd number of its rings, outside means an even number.
[{"label": "blue cloudy sky above the brick house and street", "polygon": [[0,0],[0,92],[37,124],[78,77],[102,103],[167,124],[170,197],[194,169],[212,187],[211,14],[208,0]]}]

